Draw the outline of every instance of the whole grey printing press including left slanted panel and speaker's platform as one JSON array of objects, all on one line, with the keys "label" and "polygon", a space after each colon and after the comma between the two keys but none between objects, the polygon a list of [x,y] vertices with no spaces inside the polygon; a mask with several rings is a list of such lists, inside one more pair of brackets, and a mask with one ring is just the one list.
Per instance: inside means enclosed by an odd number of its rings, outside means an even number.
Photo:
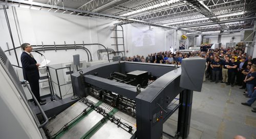
[{"label": "whole grey printing press including left slanted panel and speaker's platform", "polygon": [[[169,136],[186,138],[193,91],[202,89],[205,62],[191,57],[182,66],[127,61],[90,66],[72,74],[76,100],[40,106],[29,89],[37,114],[22,86],[27,83],[19,81],[0,47],[1,137],[157,139],[169,135],[163,124],[178,110],[176,133]],[[50,106],[55,107],[47,110]]]}]

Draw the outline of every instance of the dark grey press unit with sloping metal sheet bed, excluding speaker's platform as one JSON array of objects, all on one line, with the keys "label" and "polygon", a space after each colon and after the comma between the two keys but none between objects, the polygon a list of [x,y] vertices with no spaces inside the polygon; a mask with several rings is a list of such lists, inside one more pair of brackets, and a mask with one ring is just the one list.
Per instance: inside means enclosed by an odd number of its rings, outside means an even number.
[{"label": "dark grey press unit with sloping metal sheet bed, excluding speaker's platform", "polygon": [[205,62],[193,57],[182,66],[117,61],[84,68],[72,74],[80,99],[49,120],[45,130],[50,138],[156,139],[179,109],[174,136],[186,138],[193,90],[201,91]]}]

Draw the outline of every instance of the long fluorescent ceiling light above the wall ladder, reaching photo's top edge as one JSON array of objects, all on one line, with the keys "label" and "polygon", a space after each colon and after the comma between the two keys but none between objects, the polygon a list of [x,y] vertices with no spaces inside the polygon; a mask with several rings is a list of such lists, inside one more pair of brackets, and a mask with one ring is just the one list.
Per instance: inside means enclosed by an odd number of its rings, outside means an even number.
[{"label": "long fluorescent ceiling light above the wall ladder, reaching photo's top edge", "polygon": [[125,14],[122,14],[120,16],[129,16],[129,15],[136,14],[136,13],[139,13],[139,12],[143,12],[143,11],[151,10],[151,9],[154,9],[154,8],[170,5],[170,4],[173,4],[173,3],[176,3],[176,2],[179,2],[179,0],[170,0],[170,1],[167,1],[167,2],[163,2],[163,3],[160,3],[160,4],[150,6],[150,7],[146,7],[146,8],[136,10],[136,11],[125,13]]}]

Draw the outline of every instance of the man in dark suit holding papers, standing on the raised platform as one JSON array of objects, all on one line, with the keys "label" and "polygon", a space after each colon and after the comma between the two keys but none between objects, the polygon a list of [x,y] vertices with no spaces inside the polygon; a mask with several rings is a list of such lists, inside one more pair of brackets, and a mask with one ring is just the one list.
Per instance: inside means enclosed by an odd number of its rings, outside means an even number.
[{"label": "man in dark suit holding papers, standing on the raised platform", "polygon": [[23,77],[25,80],[27,80],[30,84],[30,88],[37,99],[37,101],[40,103],[40,105],[45,105],[46,100],[40,99],[39,94],[39,71],[38,71],[38,64],[36,60],[33,58],[33,55],[31,54],[33,48],[29,43],[23,43],[22,49],[24,52],[20,56],[20,60],[22,61],[22,69],[23,69]]}]

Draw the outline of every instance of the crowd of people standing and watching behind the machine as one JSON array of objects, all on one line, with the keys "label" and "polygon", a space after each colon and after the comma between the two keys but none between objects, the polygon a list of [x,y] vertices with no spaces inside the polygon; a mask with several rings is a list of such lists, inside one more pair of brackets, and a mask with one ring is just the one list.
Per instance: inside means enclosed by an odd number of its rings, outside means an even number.
[{"label": "crowd of people standing and watching behind the machine", "polygon": [[[250,98],[242,105],[251,106],[256,100],[256,58],[244,53],[244,49],[215,49],[196,51],[193,53],[172,53],[170,51],[148,54],[144,56],[127,57],[126,61],[162,63],[162,64],[182,64],[182,59],[199,56],[206,59],[204,81],[208,78],[210,82],[225,83],[233,87],[241,86],[244,95]],[[247,92],[246,92],[247,91]],[[252,112],[256,112],[253,108]]]}]

